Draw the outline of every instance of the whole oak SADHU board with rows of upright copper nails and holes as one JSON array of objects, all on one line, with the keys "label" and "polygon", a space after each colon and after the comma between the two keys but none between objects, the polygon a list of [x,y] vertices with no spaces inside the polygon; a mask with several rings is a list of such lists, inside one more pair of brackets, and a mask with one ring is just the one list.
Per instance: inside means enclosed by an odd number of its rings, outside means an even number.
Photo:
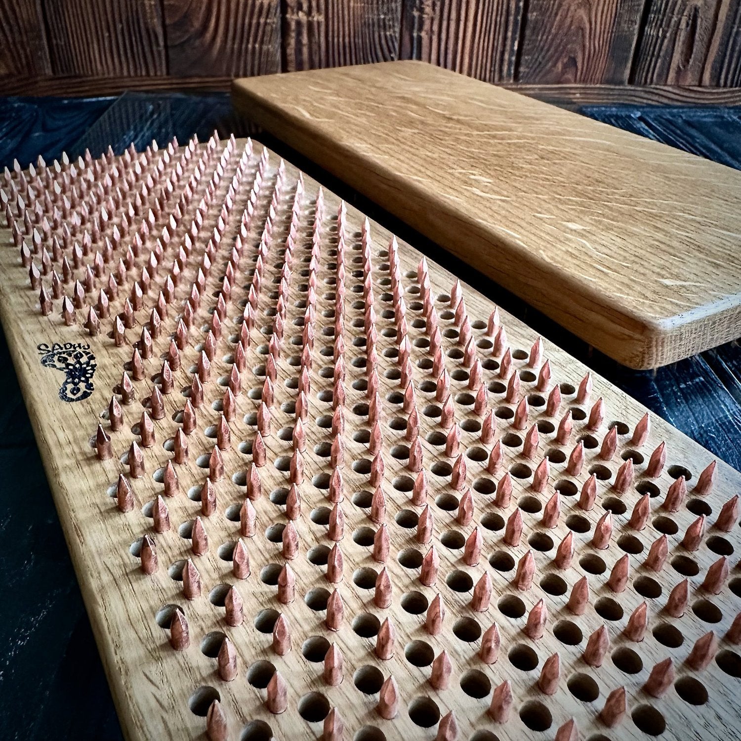
[{"label": "whole oak SADHU board with rows of upright copper nails and holes", "polygon": [[739,473],[259,144],[19,165],[1,198],[128,738],[740,727]]}]

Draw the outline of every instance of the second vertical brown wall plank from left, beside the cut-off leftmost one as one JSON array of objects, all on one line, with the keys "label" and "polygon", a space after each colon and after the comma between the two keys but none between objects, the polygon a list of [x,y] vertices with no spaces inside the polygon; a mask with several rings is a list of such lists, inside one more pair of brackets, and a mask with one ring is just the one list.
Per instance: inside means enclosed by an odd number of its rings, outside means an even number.
[{"label": "second vertical brown wall plank from left, beside the cut-off leftmost one", "polygon": [[159,0],[44,0],[44,7],[55,74],[167,73]]}]

